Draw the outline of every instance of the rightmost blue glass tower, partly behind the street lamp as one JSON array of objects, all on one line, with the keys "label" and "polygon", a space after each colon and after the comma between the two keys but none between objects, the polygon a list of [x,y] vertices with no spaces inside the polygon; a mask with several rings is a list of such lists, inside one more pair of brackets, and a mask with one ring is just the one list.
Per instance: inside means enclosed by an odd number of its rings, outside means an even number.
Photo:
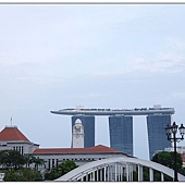
[{"label": "rightmost blue glass tower, partly behind the street lamp", "polygon": [[148,143],[149,143],[149,157],[158,150],[164,150],[164,148],[171,147],[171,141],[166,139],[165,127],[171,125],[171,115],[158,114],[147,116],[148,128]]}]

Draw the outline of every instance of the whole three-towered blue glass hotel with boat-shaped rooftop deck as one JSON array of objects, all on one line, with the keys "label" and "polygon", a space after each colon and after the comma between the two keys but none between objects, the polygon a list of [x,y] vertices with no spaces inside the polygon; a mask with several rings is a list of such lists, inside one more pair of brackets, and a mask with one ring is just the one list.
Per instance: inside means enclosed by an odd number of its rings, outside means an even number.
[{"label": "whole three-towered blue glass hotel with boat-shaped rooftop deck", "polygon": [[152,158],[157,150],[164,150],[171,147],[171,143],[166,139],[164,128],[171,125],[174,108],[161,108],[160,104],[153,108],[140,109],[85,109],[78,107],[76,109],[62,109],[59,111],[50,111],[54,114],[72,115],[72,128],[75,121],[79,119],[84,126],[84,147],[95,146],[95,115],[109,116],[110,147],[127,155],[133,156],[133,116],[146,115],[149,157]]}]

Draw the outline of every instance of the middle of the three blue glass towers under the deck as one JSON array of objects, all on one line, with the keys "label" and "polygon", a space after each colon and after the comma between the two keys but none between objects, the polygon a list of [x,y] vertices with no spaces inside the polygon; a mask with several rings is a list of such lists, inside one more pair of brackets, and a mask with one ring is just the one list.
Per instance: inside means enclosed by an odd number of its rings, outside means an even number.
[{"label": "middle of the three blue glass towers under the deck", "polygon": [[133,156],[133,116],[109,116],[110,147]]}]

